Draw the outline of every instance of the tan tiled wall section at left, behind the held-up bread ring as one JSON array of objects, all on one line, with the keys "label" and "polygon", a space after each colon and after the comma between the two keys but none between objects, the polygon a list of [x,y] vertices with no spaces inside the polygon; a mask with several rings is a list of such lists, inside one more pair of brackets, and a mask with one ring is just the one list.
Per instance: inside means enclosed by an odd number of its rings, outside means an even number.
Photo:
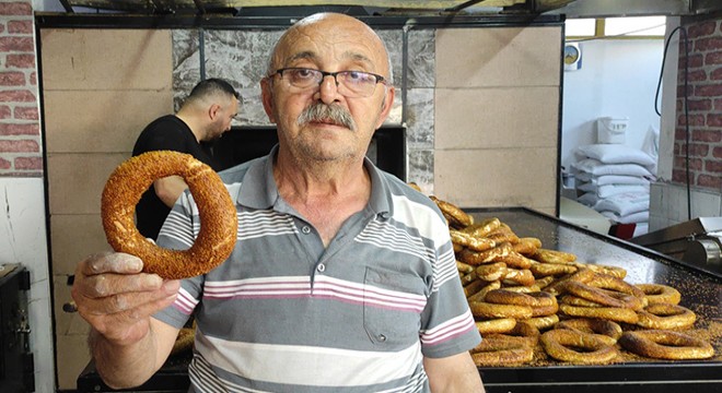
[{"label": "tan tiled wall section at left, behind the held-up bread ring", "polygon": [[44,29],[40,38],[58,388],[74,389],[90,356],[88,325],[62,311],[68,277],[109,249],[100,217],[108,174],[149,119],[173,110],[171,32]]}]

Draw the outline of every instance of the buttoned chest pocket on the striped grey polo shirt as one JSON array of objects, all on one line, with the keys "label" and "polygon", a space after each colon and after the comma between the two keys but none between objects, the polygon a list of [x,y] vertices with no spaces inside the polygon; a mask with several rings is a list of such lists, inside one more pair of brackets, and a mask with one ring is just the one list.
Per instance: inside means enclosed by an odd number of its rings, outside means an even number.
[{"label": "buttoned chest pocket on the striped grey polo shirt", "polygon": [[376,345],[405,347],[418,342],[427,303],[421,277],[366,267],[363,283],[363,327]]}]

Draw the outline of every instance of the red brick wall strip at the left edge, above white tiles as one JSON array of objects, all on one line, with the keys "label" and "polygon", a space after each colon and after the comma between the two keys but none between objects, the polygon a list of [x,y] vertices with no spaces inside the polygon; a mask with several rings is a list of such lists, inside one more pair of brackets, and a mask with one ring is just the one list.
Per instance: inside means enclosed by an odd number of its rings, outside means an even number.
[{"label": "red brick wall strip at the left edge, above white tiles", "polygon": [[0,177],[42,177],[32,1],[0,1]]}]

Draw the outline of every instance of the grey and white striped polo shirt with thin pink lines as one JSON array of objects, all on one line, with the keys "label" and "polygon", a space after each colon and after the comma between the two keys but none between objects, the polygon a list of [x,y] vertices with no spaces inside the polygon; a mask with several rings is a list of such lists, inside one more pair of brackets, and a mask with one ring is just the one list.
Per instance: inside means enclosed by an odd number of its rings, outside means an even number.
[{"label": "grey and white striped polo shirt with thin pink lines", "polygon": [[[370,201],[324,247],[280,198],[276,152],[220,174],[235,249],[155,315],[180,327],[195,313],[190,392],[428,392],[424,356],[480,341],[443,215],[366,159]],[[200,225],[186,192],[158,243],[187,249]]]}]

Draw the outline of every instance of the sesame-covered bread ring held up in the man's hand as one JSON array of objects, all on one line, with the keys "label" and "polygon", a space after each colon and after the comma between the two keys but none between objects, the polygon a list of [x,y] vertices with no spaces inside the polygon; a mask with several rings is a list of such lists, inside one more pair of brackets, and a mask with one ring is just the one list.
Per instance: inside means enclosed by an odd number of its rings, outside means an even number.
[{"label": "sesame-covered bread ring held up in the man's hand", "polygon": [[[142,236],[135,212],[142,193],[159,178],[177,175],[198,206],[200,231],[187,250],[170,250]],[[209,272],[225,261],[236,240],[235,205],[218,174],[189,154],[153,151],[115,168],[103,190],[101,215],[108,243],[143,261],[143,272],[178,279]]]}]

